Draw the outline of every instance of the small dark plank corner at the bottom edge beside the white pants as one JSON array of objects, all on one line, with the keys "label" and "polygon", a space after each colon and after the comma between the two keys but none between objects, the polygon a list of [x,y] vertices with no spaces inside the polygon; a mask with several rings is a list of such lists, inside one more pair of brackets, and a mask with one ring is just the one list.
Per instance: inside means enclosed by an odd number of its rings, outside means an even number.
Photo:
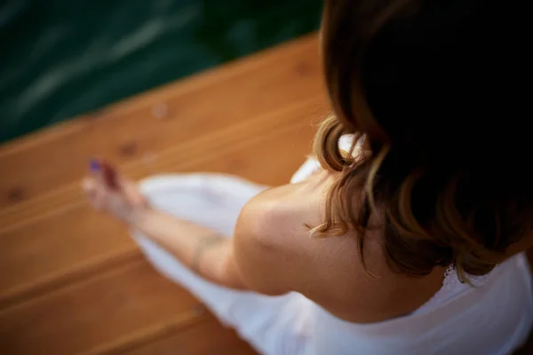
[{"label": "small dark plank corner at the bottom edge beside the white pants", "polygon": [[255,355],[257,352],[241,340],[233,329],[222,326],[217,319],[210,318],[124,354]]}]

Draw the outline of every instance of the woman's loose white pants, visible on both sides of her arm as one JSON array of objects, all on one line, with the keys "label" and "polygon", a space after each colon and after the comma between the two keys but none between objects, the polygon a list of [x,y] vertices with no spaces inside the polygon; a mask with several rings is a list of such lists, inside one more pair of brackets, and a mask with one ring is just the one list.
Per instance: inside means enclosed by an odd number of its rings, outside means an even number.
[{"label": "woman's loose white pants, visible on both sides of her arm", "polygon": [[[157,209],[233,235],[235,222],[246,201],[266,186],[238,177],[190,174],[150,177],[140,191]],[[297,293],[264,296],[220,287],[203,280],[154,241],[132,232],[147,259],[167,278],[187,288],[224,324],[263,354],[304,354],[308,348],[310,301]]]}]

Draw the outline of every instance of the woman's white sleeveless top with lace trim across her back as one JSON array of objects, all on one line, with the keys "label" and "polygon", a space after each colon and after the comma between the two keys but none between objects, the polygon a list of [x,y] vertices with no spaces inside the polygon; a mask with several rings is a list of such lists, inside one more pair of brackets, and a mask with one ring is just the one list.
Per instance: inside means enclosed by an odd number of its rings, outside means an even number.
[{"label": "woman's white sleeveless top with lace trim across her back", "polygon": [[[339,146],[349,151],[351,138]],[[319,169],[307,160],[292,183]],[[370,324],[346,322],[306,303],[312,315],[306,329],[310,354],[432,355],[509,354],[527,340],[533,325],[533,290],[523,253],[513,256],[482,277],[471,277],[476,288],[446,272],[442,288],[417,311]]]}]

